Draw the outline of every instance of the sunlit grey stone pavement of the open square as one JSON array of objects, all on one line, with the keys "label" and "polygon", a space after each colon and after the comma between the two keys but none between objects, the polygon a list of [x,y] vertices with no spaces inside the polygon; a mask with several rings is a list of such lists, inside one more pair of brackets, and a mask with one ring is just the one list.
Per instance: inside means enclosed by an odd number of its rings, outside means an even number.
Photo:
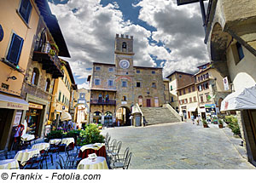
[{"label": "sunlit grey stone pavement of the open square", "polygon": [[247,162],[230,129],[193,123],[166,123],[148,127],[103,129],[111,139],[122,140],[121,152],[130,147],[129,169],[255,169]]}]

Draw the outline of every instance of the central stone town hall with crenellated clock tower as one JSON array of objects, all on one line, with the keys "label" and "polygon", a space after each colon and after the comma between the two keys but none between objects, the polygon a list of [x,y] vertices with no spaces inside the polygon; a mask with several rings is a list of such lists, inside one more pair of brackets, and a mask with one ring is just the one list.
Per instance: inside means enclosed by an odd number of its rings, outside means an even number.
[{"label": "central stone town hall with crenellated clock tower", "polygon": [[131,125],[131,106],[165,103],[162,68],[133,66],[133,37],[115,37],[114,63],[93,63],[90,122]]}]

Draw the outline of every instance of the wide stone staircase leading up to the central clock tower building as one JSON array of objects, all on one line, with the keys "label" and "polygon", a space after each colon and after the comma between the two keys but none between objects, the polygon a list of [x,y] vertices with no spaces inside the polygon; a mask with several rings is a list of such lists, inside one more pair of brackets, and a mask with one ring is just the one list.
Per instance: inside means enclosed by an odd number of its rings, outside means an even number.
[{"label": "wide stone staircase leading up to the central clock tower building", "polygon": [[180,122],[167,107],[141,107],[146,125]]}]

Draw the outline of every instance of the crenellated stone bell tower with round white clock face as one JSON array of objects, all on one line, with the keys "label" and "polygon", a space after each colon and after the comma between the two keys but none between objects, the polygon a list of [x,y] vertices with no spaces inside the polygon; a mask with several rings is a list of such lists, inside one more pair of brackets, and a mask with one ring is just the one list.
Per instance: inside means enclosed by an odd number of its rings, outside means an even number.
[{"label": "crenellated stone bell tower with round white clock face", "polygon": [[[116,34],[114,60],[119,75],[130,75],[133,71],[133,36]],[[130,72],[130,73],[129,73]],[[128,74],[127,74],[128,73]]]}]

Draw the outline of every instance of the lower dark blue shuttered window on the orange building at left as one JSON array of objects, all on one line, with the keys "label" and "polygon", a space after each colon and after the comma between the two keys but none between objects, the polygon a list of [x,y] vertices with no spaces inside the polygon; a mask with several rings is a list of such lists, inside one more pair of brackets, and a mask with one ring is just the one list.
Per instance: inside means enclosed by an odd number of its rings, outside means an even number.
[{"label": "lower dark blue shuttered window on the orange building at left", "polygon": [[9,46],[9,52],[7,54],[6,60],[18,65],[20,59],[20,52],[23,45],[23,38],[19,37],[15,33],[13,34],[12,41]]}]

